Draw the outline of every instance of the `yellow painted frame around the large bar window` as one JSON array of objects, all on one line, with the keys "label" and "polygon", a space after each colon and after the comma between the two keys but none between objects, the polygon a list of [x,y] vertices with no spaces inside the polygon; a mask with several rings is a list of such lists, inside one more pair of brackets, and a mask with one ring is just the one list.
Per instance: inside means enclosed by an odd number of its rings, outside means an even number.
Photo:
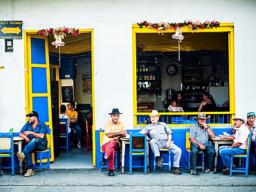
[{"label": "yellow painted frame around the large bar window", "polygon": [[[165,30],[163,33],[174,33],[175,30]],[[185,32],[198,32],[189,30],[188,26],[183,27]],[[234,23],[221,23],[219,28],[199,30],[199,32],[228,32],[228,59],[229,59],[229,99],[230,111],[228,112],[209,112],[207,114],[230,114],[232,117],[235,115],[235,51],[234,51]],[[158,33],[157,30],[152,30],[147,27],[140,28],[138,24],[132,26],[132,55],[133,55],[133,90],[134,90],[134,126],[143,126],[137,124],[137,115],[149,115],[150,113],[137,113],[137,79],[136,79],[136,34],[137,33]],[[176,115],[176,113],[159,113],[160,115]],[[197,115],[198,112],[179,113],[180,115]],[[177,126],[173,124],[174,126]],[[187,124],[179,124],[179,126],[187,126]],[[213,124],[217,125],[217,124]]]}]

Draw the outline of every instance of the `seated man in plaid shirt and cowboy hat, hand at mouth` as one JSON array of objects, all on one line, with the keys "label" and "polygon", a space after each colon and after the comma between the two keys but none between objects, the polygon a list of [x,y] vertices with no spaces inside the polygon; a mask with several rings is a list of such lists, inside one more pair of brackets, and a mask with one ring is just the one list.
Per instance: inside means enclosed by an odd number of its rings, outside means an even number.
[{"label": "seated man in plaid shirt and cowboy hat, hand at mouth", "polygon": [[199,151],[203,151],[205,153],[205,157],[207,157],[205,173],[214,174],[214,171],[212,171],[212,161],[214,160],[216,152],[209,138],[214,138],[215,133],[212,131],[210,126],[206,124],[206,121],[210,119],[210,115],[206,117],[205,113],[199,113],[198,117],[194,117],[194,119],[197,123],[190,128],[190,161],[192,166],[192,169],[190,169],[190,175],[196,175],[196,161]]}]

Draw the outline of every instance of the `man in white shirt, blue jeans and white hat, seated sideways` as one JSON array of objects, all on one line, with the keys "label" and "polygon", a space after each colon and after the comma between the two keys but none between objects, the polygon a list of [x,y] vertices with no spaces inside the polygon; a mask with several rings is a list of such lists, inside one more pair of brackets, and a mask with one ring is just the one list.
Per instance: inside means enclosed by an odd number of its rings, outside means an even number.
[{"label": "man in white shirt, blue jeans and white hat, seated sideways", "polygon": [[236,132],[235,135],[227,136],[227,135],[219,135],[219,138],[221,140],[223,139],[229,139],[233,140],[234,144],[232,146],[220,146],[219,147],[219,155],[221,155],[221,159],[223,162],[223,165],[225,166],[224,169],[222,169],[223,174],[228,173],[230,171],[230,156],[231,155],[244,155],[246,154],[246,148],[247,148],[247,140],[248,135],[250,134],[249,129],[244,124],[246,122],[246,119],[243,117],[235,117],[233,118],[235,122],[235,128]]}]

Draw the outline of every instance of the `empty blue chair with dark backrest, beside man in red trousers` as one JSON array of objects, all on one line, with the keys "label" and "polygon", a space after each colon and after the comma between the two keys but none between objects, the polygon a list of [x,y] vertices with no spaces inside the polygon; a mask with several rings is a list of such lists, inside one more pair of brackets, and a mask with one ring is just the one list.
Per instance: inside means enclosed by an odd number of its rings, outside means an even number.
[{"label": "empty blue chair with dark backrest, beside man in red trousers", "polygon": [[[132,174],[132,168],[144,168],[144,174],[147,174],[147,135],[143,133],[131,134],[129,149],[129,174]],[[143,156],[143,165],[133,165],[133,156]]]}]

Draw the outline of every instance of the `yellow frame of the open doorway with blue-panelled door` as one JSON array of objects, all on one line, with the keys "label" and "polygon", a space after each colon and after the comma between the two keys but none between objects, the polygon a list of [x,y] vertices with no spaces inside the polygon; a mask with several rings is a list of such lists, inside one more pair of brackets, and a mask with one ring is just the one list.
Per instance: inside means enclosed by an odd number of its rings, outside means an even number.
[{"label": "yellow frame of the open doorway with blue-panelled door", "polygon": [[[28,35],[37,35],[37,32],[38,30],[24,30],[24,52],[25,52],[25,61],[24,61],[24,64],[25,64],[25,68],[28,69],[29,67],[29,62],[28,62],[28,58],[29,58],[29,55],[28,55],[28,45],[27,45],[27,41],[28,41]],[[83,32],[91,32],[91,74],[92,74],[92,93],[94,93],[94,34],[93,34],[93,29],[80,29],[80,32],[83,33]],[[40,37],[39,35],[37,35],[37,37]],[[47,44],[47,49],[48,49],[48,44]],[[56,70],[57,72],[57,70]],[[50,78],[50,75],[48,76]],[[30,104],[31,104],[31,101],[29,99],[29,88],[28,88],[28,85],[29,84],[29,81],[28,81],[28,73],[25,72],[25,96],[26,96],[26,113],[29,113],[30,112]],[[51,93],[50,93],[50,98],[51,98]],[[92,95],[92,106],[93,106],[93,111],[92,113],[95,114],[95,95],[93,94]],[[49,107],[51,108],[51,106]],[[49,118],[49,127],[51,128],[52,130],[52,127],[53,127],[53,124],[51,122],[51,118]],[[95,166],[96,164],[96,153],[95,153],[95,115],[93,115],[93,126],[92,126],[92,132],[93,132],[93,166]],[[51,146],[53,146],[53,144],[51,144]],[[53,148],[53,147],[52,147]],[[53,150],[52,150],[53,151]],[[52,154],[51,155],[53,160],[54,160],[54,155]],[[53,161],[51,160],[51,161]]]}]

